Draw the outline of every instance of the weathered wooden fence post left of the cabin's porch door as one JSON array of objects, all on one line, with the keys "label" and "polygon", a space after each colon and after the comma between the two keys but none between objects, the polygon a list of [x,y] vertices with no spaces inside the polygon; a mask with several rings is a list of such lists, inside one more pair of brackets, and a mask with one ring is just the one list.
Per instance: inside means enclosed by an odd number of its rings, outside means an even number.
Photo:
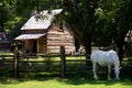
[{"label": "weathered wooden fence post left of the cabin's porch door", "polygon": [[15,45],[14,46],[14,72],[13,72],[13,77],[14,78],[18,78],[19,77],[19,65],[18,65],[18,62],[19,62],[19,54],[18,54],[18,46]]}]

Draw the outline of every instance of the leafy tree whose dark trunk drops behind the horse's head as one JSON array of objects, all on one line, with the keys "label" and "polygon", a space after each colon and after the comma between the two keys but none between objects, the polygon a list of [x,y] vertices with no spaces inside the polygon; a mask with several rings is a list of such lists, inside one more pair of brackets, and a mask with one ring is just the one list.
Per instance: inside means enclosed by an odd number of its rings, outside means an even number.
[{"label": "leafy tree whose dark trunk drops behind the horse's head", "polygon": [[119,50],[120,61],[122,61],[124,37],[132,29],[132,1],[99,0],[98,4],[99,8],[96,10],[96,35],[102,33],[103,36],[99,36],[99,38],[101,42],[105,38],[108,40],[109,42],[106,45],[113,41]]}]

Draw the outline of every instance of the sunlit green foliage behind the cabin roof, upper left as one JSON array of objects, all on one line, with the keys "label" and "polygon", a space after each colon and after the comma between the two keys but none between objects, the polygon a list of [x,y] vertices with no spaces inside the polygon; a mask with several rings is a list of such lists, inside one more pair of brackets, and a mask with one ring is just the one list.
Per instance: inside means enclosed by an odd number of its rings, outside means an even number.
[{"label": "sunlit green foliage behind the cabin roof, upper left", "polygon": [[31,16],[34,7],[37,11],[61,7],[61,0],[1,0],[0,1],[0,31],[12,37],[21,34],[21,26]]}]

